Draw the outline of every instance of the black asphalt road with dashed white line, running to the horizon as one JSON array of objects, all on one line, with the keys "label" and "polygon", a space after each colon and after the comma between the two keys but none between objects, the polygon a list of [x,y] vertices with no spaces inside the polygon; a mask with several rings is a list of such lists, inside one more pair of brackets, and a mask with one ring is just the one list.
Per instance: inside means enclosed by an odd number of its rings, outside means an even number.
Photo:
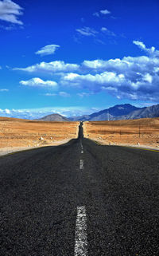
[{"label": "black asphalt road with dashed white line, running to the horizon", "polygon": [[0,158],[0,255],[158,256],[159,153],[79,139]]}]

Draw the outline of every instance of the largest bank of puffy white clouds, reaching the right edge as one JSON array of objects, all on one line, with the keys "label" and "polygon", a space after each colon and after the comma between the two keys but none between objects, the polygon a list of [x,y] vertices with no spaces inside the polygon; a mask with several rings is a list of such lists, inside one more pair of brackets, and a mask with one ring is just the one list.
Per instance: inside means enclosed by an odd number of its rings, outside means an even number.
[{"label": "largest bank of puffy white clouds, reaching the right edge", "polygon": [[76,86],[97,93],[101,90],[118,98],[130,100],[159,100],[159,55],[154,47],[147,49],[135,43],[148,56],[122,59],[83,61],[83,73],[67,73],[62,85]]}]

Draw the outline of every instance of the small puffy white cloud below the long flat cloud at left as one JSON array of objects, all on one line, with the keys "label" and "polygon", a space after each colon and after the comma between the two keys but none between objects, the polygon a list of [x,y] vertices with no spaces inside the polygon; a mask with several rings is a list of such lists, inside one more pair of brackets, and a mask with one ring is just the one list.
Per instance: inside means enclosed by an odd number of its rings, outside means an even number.
[{"label": "small puffy white cloud below the long flat cloud at left", "polygon": [[56,88],[57,83],[55,81],[43,81],[41,78],[34,77],[28,81],[20,81],[21,85],[27,85],[32,87],[52,87]]}]

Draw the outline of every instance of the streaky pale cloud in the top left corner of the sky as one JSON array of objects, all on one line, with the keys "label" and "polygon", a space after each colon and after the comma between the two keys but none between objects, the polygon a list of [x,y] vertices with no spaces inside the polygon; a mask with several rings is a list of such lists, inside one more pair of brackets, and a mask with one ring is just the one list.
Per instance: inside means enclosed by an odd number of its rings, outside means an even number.
[{"label": "streaky pale cloud in the top left corner of the sky", "polygon": [[22,25],[23,22],[18,19],[18,16],[22,15],[21,10],[21,6],[11,0],[0,1],[0,19],[2,21]]}]

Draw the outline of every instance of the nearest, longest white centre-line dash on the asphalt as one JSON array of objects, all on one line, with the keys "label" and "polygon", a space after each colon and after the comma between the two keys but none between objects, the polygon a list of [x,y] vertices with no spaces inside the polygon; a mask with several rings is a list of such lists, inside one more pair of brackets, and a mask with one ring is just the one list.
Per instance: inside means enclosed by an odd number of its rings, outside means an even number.
[{"label": "nearest, longest white centre-line dash on the asphalt", "polygon": [[87,256],[87,216],[85,207],[77,207],[75,256]]}]

